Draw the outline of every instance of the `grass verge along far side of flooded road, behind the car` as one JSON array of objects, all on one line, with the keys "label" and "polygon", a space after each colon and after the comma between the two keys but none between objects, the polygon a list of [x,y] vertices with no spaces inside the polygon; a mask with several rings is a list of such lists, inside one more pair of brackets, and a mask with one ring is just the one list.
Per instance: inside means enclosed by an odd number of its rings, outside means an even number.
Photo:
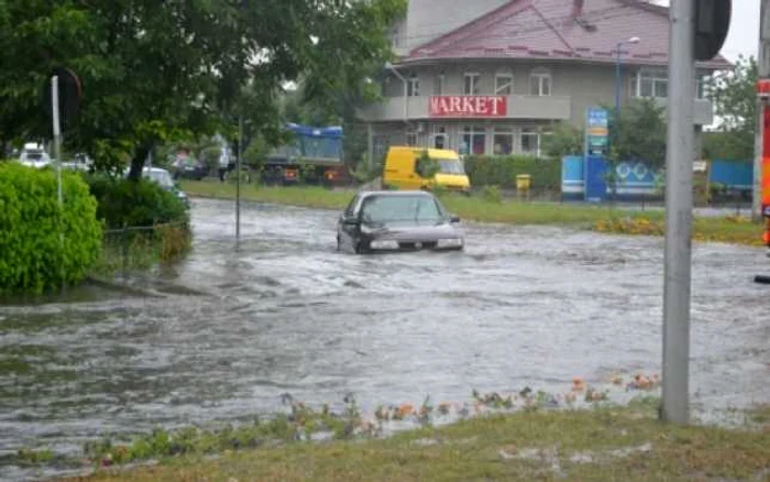
[{"label": "grass verge along far side of flooded road, behind the car", "polygon": [[[234,199],[230,183],[182,182],[193,196]],[[353,189],[330,190],[319,187],[242,186],[242,199],[292,206],[343,209],[355,194]],[[613,234],[654,235],[664,233],[663,211],[617,209],[612,206],[573,206],[554,202],[522,202],[460,195],[440,195],[447,209],[462,219],[509,224],[557,224]],[[695,218],[693,240],[762,247],[762,227],[741,217]]]}]

